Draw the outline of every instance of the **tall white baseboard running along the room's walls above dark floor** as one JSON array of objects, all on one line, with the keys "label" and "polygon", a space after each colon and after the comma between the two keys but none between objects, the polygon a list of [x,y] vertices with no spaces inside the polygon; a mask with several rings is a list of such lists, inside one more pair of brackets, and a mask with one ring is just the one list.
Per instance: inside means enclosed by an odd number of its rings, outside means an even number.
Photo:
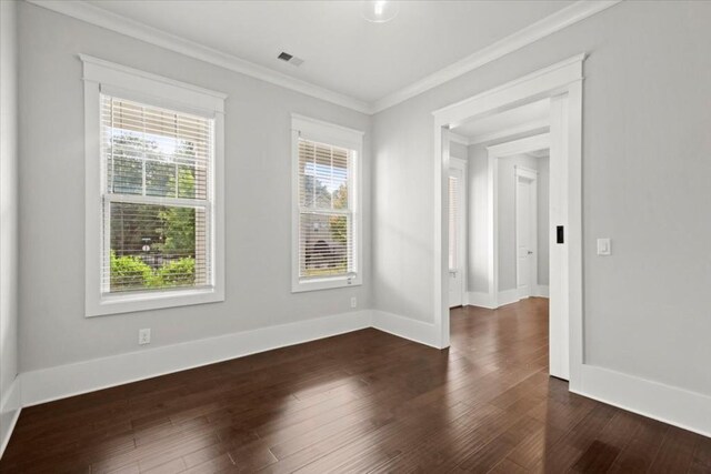
[{"label": "tall white baseboard running along the room's walls above dark floor", "polygon": [[[480,295],[474,293],[472,300]],[[504,301],[502,299],[501,304],[505,304]],[[22,406],[371,326],[438,346],[437,331],[431,323],[363,310],[26,372],[16,379],[0,403],[0,455]],[[580,379],[580,390],[573,390],[580,395],[711,436],[711,396],[593,365],[583,365]]]}]

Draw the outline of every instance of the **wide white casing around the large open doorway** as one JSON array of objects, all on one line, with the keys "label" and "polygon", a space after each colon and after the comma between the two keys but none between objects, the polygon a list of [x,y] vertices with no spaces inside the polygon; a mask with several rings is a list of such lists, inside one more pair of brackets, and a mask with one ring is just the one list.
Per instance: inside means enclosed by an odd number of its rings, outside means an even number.
[{"label": "wide white casing around the large open doorway", "polygon": [[[434,115],[433,132],[433,184],[434,184],[434,285],[433,285],[433,339],[439,347],[448,347],[450,343],[450,317],[448,297],[448,179],[449,179],[449,128],[464,121],[490,115],[499,111],[521,104],[552,98],[551,139],[558,142],[559,170],[564,165],[565,172],[559,171],[558,180],[564,190],[559,191],[559,199],[564,202],[564,210],[554,210],[555,152],[551,143],[551,245],[555,238],[555,226],[564,226],[564,259],[559,260],[554,269],[554,252],[551,252],[550,291],[553,300],[554,274],[565,282],[565,301],[560,301],[560,313],[554,321],[551,312],[550,356],[551,375],[570,380],[570,391],[583,391],[583,375],[589,366],[583,362],[583,304],[582,304],[582,81],[583,61],[587,54],[577,54],[567,60],[533,71],[524,77],[513,79],[477,95],[438,109]],[[557,98],[565,98],[558,101]],[[560,105],[555,105],[555,103]],[[558,114],[554,107],[559,107]],[[557,118],[558,117],[558,118]],[[558,124],[555,124],[558,120]],[[560,202],[560,201],[559,201]],[[494,223],[495,228],[495,223]],[[564,273],[561,274],[561,273]],[[559,281],[560,282],[560,281]],[[559,300],[562,294],[559,292]],[[552,301],[551,301],[552,302]],[[561,321],[564,320],[564,321]],[[563,329],[563,325],[567,329]],[[555,331],[555,332],[554,332]],[[554,361],[555,359],[555,361]],[[562,370],[557,370],[555,367]]]}]

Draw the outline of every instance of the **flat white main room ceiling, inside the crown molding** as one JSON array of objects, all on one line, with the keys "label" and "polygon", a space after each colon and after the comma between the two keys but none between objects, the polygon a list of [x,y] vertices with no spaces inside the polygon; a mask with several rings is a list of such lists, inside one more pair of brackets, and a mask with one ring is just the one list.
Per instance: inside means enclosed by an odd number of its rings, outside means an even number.
[{"label": "flat white main room ceiling, inside the crown molding", "polygon": [[[400,1],[399,14],[388,23],[365,21],[361,1],[90,3],[372,103],[574,2]],[[277,60],[282,51],[303,59],[303,64],[297,68]]]}]

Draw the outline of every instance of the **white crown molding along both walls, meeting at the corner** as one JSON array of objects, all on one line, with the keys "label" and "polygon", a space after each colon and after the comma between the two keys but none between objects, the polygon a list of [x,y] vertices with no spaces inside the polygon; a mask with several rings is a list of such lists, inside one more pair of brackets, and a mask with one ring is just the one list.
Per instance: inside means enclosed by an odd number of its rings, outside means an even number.
[{"label": "white crown molding along both walls, meeting at the corner", "polygon": [[377,100],[373,103],[354,99],[347,94],[316,85],[313,83],[293,78],[263,65],[243,60],[233,54],[228,54],[206,47],[194,41],[180,38],[144,23],[128,19],[120,14],[109,12],[92,6],[83,0],[53,1],[53,0],[26,0],[29,3],[68,17],[126,34],[131,38],[194,58],[221,68],[239,72],[252,78],[263,80],[307,95],[314,97],[358,112],[373,114],[384,109],[419,95],[432,88],[448,82],[459,75],[480,68],[505,54],[517,51],[549,34],[562,30],[571,24],[582,21],[602,10],[605,10],[621,0],[580,0],[558,12],[513,33],[495,43],[483,48],[469,57],[450,64],[442,70],[421,79],[402,90]]}]

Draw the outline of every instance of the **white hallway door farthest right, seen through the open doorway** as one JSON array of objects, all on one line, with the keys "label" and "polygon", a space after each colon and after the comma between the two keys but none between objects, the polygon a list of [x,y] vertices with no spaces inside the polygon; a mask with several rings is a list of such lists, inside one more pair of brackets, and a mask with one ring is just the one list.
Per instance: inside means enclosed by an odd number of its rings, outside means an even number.
[{"label": "white hallway door farthest right, seen through the open doorway", "polygon": [[533,269],[535,240],[534,222],[534,181],[524,177],[517,177],[515,188],[515,245],[517,245],[517,286],[519,297],[533,294]]}]

